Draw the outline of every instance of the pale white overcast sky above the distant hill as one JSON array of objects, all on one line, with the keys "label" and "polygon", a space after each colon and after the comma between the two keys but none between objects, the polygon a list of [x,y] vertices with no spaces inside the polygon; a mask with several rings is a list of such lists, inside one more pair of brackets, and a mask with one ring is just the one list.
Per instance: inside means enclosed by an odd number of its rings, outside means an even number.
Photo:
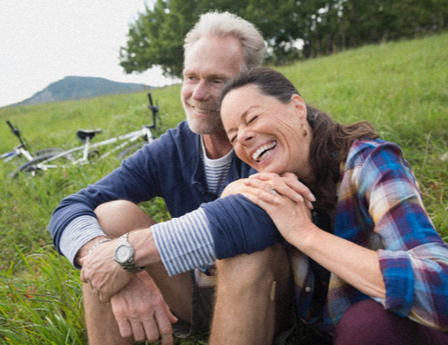
[{"label": "pale white overcast sky above the distant hill", "polygon": [[4,0],[0,9],[0,106],[24,101],[65,76],[151,86],[173,84],[160,68],[124,74],[120,46],[154,0]]}]

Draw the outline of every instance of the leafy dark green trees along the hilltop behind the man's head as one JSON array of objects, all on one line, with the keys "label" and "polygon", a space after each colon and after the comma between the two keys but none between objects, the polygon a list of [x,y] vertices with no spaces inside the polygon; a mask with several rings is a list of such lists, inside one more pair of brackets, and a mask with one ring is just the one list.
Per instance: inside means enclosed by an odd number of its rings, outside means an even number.
[{"label": "leafy dark green trees along the hilltop behind the man's head", "polygon": [[124,71],[160,65],[165,75],[181,76],[184,35],[199,15],[212,10],[229,11],[257,26],[271,64],[448,26],[448,0],[157,0],[130,25],[127,45],[120,49]]}]

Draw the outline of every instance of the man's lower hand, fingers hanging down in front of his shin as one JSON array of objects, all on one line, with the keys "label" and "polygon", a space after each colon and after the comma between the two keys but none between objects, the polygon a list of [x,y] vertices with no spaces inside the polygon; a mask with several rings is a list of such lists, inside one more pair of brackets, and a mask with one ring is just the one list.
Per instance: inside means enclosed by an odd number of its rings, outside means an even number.
[{"label": "man's lower hand, fingers hanging down in front of his shin", "polygon": [[177,319],[146,271],[133,275],[112,297],[111,304],[122,337],[133,336],[135,341],[150,343],[161,337],[163,345],[173,343],[171,324]]}]

